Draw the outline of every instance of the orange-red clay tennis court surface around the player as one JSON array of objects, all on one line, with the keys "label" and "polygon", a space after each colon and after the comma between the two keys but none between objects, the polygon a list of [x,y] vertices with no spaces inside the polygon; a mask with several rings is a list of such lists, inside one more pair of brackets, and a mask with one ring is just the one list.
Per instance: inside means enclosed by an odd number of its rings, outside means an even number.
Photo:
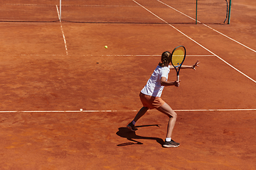
[{"label": "orange-red clay tennis court surface around the player", "polygon": [[[3,12],[0,169],[256,169],[256,3],[233,0],[230,24],[214,14],[205,20],[203,8],[202,23],[181,13],[171,21],[172,8],[147,3],[129,1],[134,18],[143,17],[127,23],[100,11],[71,21],[79,10],[68,5],[59,21],[58,1],[41,17],[37,8],[26,13],[41,21]],[[172,138],[181,143],[164,148],[166,115],[151,110],[135,132],[126,126],[161,53],[178,45],[186,47],[184,64],[201,63],[181,70],[179,87],[164,89],[178,114]]]}]

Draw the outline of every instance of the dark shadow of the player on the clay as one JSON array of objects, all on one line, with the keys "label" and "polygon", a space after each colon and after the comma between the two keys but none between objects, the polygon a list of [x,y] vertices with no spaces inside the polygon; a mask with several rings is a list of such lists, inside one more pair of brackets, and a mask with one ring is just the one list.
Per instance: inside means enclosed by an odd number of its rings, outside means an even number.
[{"label": "dark shadow of the player on the clay", "polygon": [[[159,125],[141,125],[141,126],[135,126],[135,128],[142,128],[142,127],[148,127],[148,126],[157,126],[159,127]],[[127,140],[132,141],[132,142],[125,142],[122,144],[119,144],[117,146],[122,147],[122,146],[127,146],[127,145],[143,145],[142,142],[139,142],[137,140],[156,140],[156,142],[159,142],[160,145],[164,145],[164,140],[162,140],[159,137],[143,137],[143,136],[139,136],[136,135],[136,132],[129,130],[128,128],[118,128],[118,132],[117,135],[119,135],[119,137],[124,137],[127,138]]]}]

